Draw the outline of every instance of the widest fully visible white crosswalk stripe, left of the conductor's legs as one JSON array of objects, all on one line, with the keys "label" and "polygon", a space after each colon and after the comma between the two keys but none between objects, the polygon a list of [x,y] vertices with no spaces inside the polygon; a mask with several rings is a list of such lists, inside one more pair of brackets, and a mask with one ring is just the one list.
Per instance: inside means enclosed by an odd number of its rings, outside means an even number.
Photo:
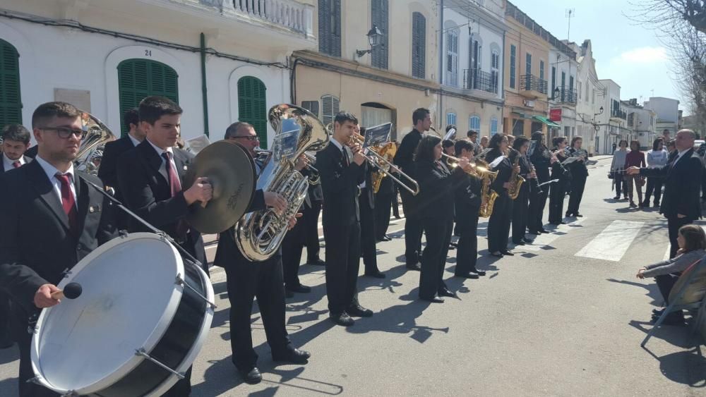
[{"label": "widest fully visible white crosswalk stripe, left of the conductor's legs", "polygon": [[613,221],[579,252],[577,257],[618,262],[630,248],[645,222]]}]

